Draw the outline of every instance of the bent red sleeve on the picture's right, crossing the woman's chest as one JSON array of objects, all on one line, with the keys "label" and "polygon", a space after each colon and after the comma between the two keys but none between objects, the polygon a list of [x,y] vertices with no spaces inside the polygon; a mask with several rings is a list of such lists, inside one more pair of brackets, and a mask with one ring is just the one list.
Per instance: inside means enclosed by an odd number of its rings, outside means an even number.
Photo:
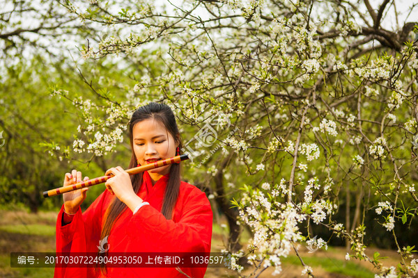
[{"label": "bent red sleeve on the picture's right, crossing the woman's chest", "polygon": [[[194,188],[183,202],[178,222],[167,220],[153,206],[142,206],[128,224],[129,249],[132,252],[210,252],[212,208],[208,198]],[[190,271],[192,277],[203,277],[206,268]]]}]

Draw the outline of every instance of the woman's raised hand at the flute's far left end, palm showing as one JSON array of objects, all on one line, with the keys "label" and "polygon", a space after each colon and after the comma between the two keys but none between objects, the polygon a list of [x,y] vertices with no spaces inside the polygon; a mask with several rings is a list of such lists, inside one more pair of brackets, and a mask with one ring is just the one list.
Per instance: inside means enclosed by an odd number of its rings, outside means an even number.
[{"label": "woman's raised hand at the flute's far left end, palm showing", "polygon": [[[88,181],[88,177],[84,177],[84,181]],[[82,182],[82,172],[72,170],[71,174],[66,173],[64,178],[64,186],[71,186],[72,184]],[[64,210],[68,214],[75,214],[80,204],[86,199],[86,191],[89,188],[81,188],[68,193],[63,193]]]}]

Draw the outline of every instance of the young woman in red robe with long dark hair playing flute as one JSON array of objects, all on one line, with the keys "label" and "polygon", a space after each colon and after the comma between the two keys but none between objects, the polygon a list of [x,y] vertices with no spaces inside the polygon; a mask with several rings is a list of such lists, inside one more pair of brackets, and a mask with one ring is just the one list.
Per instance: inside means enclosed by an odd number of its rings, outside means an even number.
[{"label": "young woman in red robe with long dark hair playing flute", "polygon": [[[180,154],[176,118],[165,104],[151,102],[132,115],[129,167]],[[130,176],[122,167],[107,170],[114,177],[107,190],[84,213],[83,188],[63,194],[56,222],[56,252],[210,252],[212,210],[205,193],[180,181],[174,163]],[[84,181],[88,177],[84,177]],[[65,174],[64,186],[82,181],[82,173]],[[102,242],[100,242],[102,240]],[[103,246],[104,240],[107,245]],[[203,277],[206,268],[181,268],[189,277]],[[186,277],[176,268],[55,268],[54,277]]]}]

